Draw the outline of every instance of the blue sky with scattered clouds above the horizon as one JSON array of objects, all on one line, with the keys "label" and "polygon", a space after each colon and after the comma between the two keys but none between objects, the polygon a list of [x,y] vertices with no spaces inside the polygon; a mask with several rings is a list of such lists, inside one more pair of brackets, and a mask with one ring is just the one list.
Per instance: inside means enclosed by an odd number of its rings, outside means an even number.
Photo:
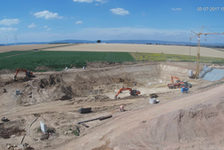
[{"label": "blue sky with scattered clouds above the horizon", "polygon": [[[224,32],[223,0],[2,0],[0,43],[81,40],[189,42]],[[209,36],[208,42],[224,42]]]}]

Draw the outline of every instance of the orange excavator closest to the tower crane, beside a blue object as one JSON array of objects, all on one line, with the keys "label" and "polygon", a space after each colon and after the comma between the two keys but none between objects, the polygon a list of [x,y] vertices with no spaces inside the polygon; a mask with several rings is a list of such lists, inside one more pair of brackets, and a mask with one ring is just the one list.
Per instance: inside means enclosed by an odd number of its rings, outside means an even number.
[{"label": "orange excavator closest to the tower crane, beside a blue object", "polygon": [[[174,82],[174,79],[176,79],[176,81]],[[169,89],[176,89],[176,88],[191,88],[192,84],[188,83],[187,81],[181,81],[180,78],[176,77],[176,76],[171,76],[171,82],[167,84]]]}]

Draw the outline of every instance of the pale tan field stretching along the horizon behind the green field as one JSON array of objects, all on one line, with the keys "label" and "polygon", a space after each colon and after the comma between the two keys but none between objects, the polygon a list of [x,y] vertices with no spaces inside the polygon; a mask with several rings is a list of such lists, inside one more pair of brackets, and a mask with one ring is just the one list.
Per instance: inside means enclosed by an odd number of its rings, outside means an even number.
[{"label": "pale tan field stretching along the horizon behind the green field", "polygon": [[[106,52],[142,52],[179,55],[197,55],[197,47],[175,45],[145,44],[78,44],[67,47],[49,48],[48,51],[106,51]],[[224,51],[201,47],[201,56],[224,58]]]}]

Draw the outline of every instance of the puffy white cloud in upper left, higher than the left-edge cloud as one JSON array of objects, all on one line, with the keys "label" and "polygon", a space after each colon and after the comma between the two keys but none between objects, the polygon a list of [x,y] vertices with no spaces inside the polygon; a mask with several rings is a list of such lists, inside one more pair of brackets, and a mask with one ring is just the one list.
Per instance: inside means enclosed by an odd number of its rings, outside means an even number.
[{"label": "puffy white cloud in upper left, higher than the left-edge cloud", "polygon": [[44,18],[44,19],[61,19],[62,16],[59,16],[58,13],[50,12],[48,10],[40,11],[34,13],[36,18]]}]

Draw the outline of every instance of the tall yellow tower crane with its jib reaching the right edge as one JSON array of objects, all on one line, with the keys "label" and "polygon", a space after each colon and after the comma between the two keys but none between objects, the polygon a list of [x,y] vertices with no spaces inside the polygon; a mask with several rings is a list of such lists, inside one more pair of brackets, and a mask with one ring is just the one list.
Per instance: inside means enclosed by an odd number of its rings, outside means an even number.
[{"label": "tall yellow tower crane with its jib reaching the right edge", "polygon": [[199,78],[199,73],[200,73],[200,42],[201,42],[201,36],[202,35],[224,35],[224,32],[222,33],[218,33],[218,32],[214,32],[214,33],[202,33],[202,32],[199,32],[199,33],[195,33],[193,32],[194,34],[196,34],[196,36],[198,37],[198,52],[197,52],[197,67],[196,67],[196,72],[195,72],[195,78]]}]

